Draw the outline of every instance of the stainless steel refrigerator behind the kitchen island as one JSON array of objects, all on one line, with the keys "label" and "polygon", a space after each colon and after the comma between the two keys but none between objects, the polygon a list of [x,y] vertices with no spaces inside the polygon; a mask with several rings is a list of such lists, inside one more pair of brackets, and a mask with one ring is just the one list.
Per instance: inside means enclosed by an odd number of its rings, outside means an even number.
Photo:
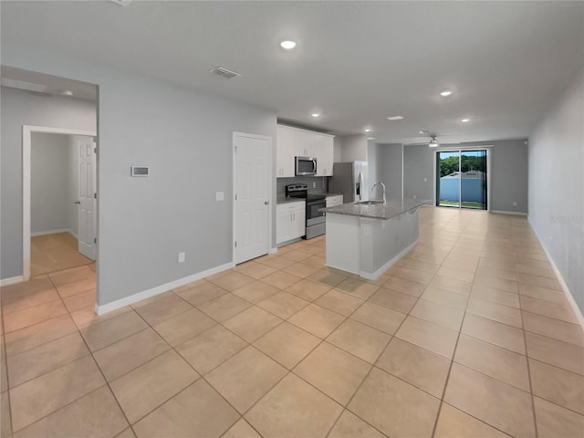
[{"label": "stainless steel refrigerator behind the kitchen island", "polygon": [[344,203],[369,200],[367,162],[335,162],[328,178],[328,192],[342,193]]}]

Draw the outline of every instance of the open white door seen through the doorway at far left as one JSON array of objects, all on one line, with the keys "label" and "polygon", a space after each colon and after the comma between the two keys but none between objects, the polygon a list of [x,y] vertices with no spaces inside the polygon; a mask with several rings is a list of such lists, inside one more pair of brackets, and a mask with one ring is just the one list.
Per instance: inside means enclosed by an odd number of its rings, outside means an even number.
[{"label": "open white door seen through the doorway at far left", "polygon": [[78,140],[78,251],[95,260],[96,255],[96,153],[92,138]]}]

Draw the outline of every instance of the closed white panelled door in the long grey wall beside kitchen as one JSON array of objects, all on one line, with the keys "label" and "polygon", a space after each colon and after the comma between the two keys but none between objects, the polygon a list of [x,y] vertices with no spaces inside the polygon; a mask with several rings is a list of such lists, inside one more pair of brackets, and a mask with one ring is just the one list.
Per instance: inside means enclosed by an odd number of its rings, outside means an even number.
[{"label": "closed white panelled door in the long grey wall beside kitchen", "polygon": [[269,138],[235,133],[235,264],[265,255],[269,249],[269,157]]}]

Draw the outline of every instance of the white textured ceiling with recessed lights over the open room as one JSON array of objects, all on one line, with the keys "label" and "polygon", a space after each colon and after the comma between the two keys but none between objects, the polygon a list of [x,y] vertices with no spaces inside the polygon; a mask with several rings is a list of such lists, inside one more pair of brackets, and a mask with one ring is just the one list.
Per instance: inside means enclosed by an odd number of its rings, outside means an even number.
[{"label": "white textured ceiling with recessed lights over the open room", "polygon": [[[253,103],[336,134],[370,127],[381,143],[423,141],[419,130],[442,142],[525,138],[584,66],[584,2],[1,7],[3,42]],[[278,47],[285,38],[297,49]],[[215,77],[215,66],[242,76]],[[443,89],[454,94],[442,98]],[[387,120],[393,115],[404,120]]]}]

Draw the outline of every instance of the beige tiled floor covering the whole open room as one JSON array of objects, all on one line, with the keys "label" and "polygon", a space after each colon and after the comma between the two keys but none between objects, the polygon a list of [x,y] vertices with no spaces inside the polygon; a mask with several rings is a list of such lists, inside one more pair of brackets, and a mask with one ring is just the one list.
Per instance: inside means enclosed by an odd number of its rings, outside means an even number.
[{"label": "beige tiled floor covering the whole open room", "polygon": [[378,280],[324,261],[298,242],[99,318],[89,266],[3,288],[2,436],[584,435],[582,328],[526,218],[422,208]]}]

